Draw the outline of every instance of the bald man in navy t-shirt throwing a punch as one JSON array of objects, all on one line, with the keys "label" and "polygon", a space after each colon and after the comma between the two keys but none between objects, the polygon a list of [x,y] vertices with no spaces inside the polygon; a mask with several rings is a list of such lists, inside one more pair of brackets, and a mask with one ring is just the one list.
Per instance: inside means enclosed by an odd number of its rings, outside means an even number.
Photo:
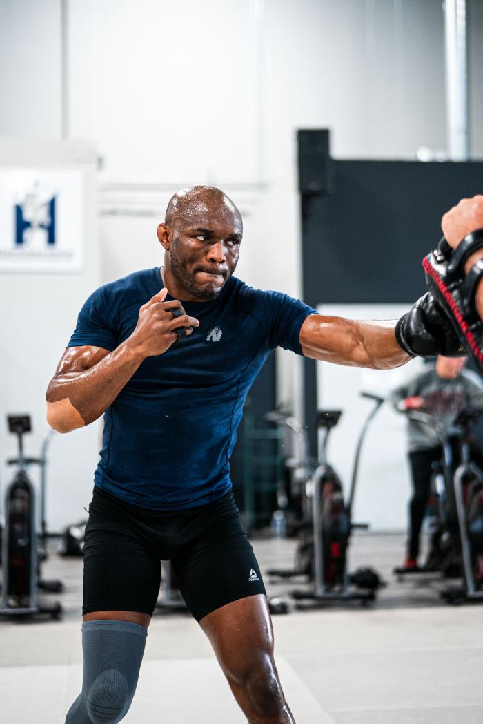
[{"label": "bald man in navy t-shirt throwing a punch", "polygon": [[49,384],[48,421],[59,432],[105,413],[85,531],[84,675],[69,724],[114,724],[129,709],[160,558],[171,559],[247,720],[294,722],[260,568],[230,493],[228,460],[249,387],[279,345],[376,369],[458,348],[429,294],[395,326],[322,317],[247,287],[232,276],[242,233],[221,190],[175,194],[158,226],[163,269],[90,296]]}]

